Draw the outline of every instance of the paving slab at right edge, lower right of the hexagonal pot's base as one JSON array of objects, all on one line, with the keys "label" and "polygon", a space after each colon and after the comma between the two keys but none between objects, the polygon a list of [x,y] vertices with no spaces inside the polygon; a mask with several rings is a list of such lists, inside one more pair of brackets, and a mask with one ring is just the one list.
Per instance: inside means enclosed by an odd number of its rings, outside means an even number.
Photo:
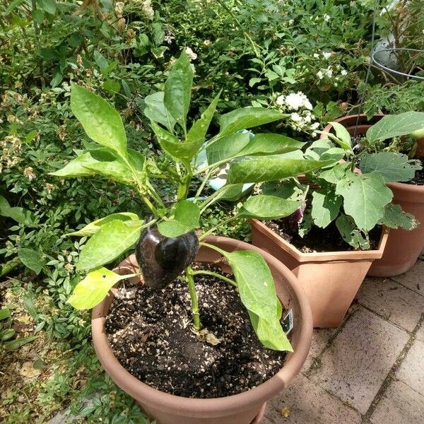
[{"label": "paving slab at right edge, lower right of the hexagonal pot's base", "polygon": [[424,312],[424,296],[389,278],[365,278],[358,302],[403,329],[413,331]]}]

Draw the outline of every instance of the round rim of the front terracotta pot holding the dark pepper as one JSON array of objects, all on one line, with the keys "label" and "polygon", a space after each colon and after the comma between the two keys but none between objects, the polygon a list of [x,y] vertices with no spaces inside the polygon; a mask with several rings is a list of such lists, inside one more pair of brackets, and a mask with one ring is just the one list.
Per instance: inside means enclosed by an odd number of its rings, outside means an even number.
[{"label": "round rim of the front terracotta pot holding the dark pepper", "polygon": [[119,387],[135,399],[142,398],[143,403],[149,404],[152,408],[159,408],[167,412],[173,412],[177,408],[180,415],[187,414],[192,417],[204,416],[205,411],[208,411],[208,415],[211,417],[222,416],[223,410],[228,413],[237,413],[244,411],[246,405],[253,403],[263,404],[268,401],[272,396],[287,387],[290,380],[298,374],[309,353],[312,338],[312,312],[309,302],[297,278],[285,265],[281,264],[271,254],[246,242],[220,236],[208,236],[205,241],[213,245],[232,244],[237,249],[250,249],[260,253],[268,264],[281,270],[286,284],[290,287],[293,297],[298,302],[300,316],[302,317],[299,322],[298,342],[293,345],[294,352],[288,353],[281,370],[266,382],[243,393],[220,398],[192,399],[167,394],[148,386],[148,384],[131,375],[114,356],[104,331],[105,312],[110,307],[113,293],[110,292],[110,295],[105,300],[94,307],[91,320],[93,343],[100,363],[102,363],[110,377],[113,375],[112,379]]}]

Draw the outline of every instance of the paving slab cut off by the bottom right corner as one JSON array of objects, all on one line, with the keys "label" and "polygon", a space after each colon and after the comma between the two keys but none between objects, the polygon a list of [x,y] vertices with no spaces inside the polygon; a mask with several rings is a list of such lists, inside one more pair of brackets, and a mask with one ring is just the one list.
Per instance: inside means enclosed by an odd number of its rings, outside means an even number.
[{"label": "paving slab cut off by the bottom right corner", "polygon": [[372,424],[422,424],[424,396],[404,382],[391,382],[370,418]]}]

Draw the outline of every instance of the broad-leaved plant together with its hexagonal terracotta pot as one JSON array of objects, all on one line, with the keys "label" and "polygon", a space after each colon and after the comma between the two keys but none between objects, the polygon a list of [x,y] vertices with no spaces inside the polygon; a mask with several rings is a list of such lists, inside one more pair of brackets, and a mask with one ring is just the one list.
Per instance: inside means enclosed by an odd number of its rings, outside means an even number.
[{"label": "broad-leaved plant together with its hexagonal terracotta pot", "polygon": [[[351,305],[372,261],[382,257],[388,228],[412,228],[415,220],[391,204],[386,179],[413,175],[414,164],[396,153],[363,157],[348,131],[331,123],[305,151],[305,158],[334,162],[302,179],[268,183],[262,193],[279,193],[302,206],[288,218],[252,220],[252,242],[271,252],[298,277],[310,300],[314,326],[336,327]],[[326,138],[324,138],[326,137]]]}]

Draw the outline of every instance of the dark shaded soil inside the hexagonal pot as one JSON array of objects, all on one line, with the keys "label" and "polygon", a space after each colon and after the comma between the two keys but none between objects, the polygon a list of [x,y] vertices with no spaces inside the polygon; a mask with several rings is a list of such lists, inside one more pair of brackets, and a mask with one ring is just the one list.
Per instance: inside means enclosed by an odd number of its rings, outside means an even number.
[{"label": "dark shaded soil inside the hexagonal pot", "polygon": [[[264,221],[265,225],[273,232],[291,243],[300,252],[341,252],[345,250],[355,250],[346,243],[338,232],[336,224],[332,222],[326,228],[313,226],[304,238],[298,234],[298,228],[288,227],[284,220]],[[377,226],[369,232],[371,249],[377,249],[382,228]]]}]

